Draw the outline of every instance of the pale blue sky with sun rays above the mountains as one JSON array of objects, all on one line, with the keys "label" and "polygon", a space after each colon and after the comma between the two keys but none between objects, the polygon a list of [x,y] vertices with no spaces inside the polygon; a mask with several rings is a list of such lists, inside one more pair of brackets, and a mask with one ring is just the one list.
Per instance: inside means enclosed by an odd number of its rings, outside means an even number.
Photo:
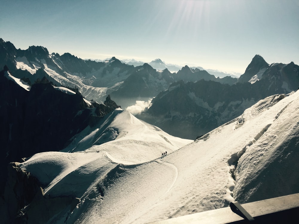
[{"label": "pale blue sky with sun rays above the mountains", "polygon": [[244,73],[260,54],[299,65],[299,0],[2,0],[0,37],[82,59]]}]

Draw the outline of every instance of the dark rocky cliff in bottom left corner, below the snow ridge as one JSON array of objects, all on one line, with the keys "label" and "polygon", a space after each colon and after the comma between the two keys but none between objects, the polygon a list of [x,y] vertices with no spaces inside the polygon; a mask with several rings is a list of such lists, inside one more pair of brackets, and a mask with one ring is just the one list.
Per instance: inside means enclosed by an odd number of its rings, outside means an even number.
[{"label": "dark rocky cliff in bottom left corner, below the snow ridge", "polygon": [[[18,162],[8,165],[8,179],[0,205],[3,223],[46,223],[53,217],[53,222],[61,221],[61,216],[67,217],[80,202],[79,198],[44,194],[39,181],[18,165]],[[60,219],[55,220],[56,215]]]}]

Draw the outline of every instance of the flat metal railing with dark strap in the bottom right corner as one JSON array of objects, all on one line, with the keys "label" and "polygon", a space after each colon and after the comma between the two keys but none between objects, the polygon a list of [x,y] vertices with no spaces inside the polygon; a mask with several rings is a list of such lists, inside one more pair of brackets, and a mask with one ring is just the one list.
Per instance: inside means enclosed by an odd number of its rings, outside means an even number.
[{"label": "flat metal railing with dark strap in the bottom right corner", "polygon": [[194,213],[152,224],[299,223],[299,193]]}]

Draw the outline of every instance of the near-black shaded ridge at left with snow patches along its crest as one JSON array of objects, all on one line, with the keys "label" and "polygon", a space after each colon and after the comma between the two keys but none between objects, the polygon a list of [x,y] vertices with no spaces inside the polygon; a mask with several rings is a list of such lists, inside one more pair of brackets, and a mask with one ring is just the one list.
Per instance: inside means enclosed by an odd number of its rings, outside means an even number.
[{"label": "near-black shaded ridge at left with snow patches along its crest", "polygon": [[19,79],[5,66],[0,72],[2,170],[23,157],[62,150],[72,136],[119,107],[110,96],[105,105],[87,101],[80,93],[54,87],[47,79],[33,84],[30,91],[15,80]]}]

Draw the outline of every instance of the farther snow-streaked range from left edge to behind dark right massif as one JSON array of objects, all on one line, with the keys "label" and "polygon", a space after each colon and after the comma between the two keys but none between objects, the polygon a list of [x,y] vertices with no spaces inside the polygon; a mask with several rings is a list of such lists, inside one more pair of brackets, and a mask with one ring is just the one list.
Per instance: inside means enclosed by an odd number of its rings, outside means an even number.
[{"label": "farther snow-streaked range from left edge to behind dark right massif", "polygon": [[147,63],[134,67],[115,57],[105,62],[95,62],[70,53],[49,54],[47,48],[42,46],[21,50],[0,38],[0,67],[4,65],[15,77],[30,83],[46,77],[57,86],[78,88],[86,99],[100,102],[110,94],[123,108],[134,105],[136,100],[148,101],[181,79],[185,82],[214,80],[230,85],[237,81],[230,76],[219,79],[198,68],[184,67],[178,73],[171,73],[167,69],[157,71]]}]

